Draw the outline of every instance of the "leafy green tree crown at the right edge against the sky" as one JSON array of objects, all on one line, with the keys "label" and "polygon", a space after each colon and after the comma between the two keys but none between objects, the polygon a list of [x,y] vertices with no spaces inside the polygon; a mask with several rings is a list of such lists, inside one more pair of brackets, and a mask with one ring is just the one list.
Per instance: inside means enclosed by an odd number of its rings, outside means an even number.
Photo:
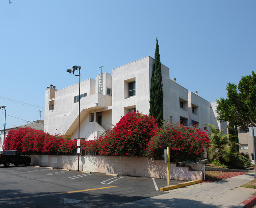
[{"label": "leafy green tree crown at the right edge against the sky", "polygon": [[238,86],[228,83],[226,90],[228,98],[217,100],[217,120],[249,131],[256,126],[256,74],[241,77]]}]

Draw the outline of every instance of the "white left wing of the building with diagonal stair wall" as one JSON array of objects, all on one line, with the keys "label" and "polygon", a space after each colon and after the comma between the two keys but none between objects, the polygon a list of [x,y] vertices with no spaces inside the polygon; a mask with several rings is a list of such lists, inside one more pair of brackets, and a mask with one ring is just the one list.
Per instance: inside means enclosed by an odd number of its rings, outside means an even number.
[{"label": "white left wing of the building with diagonal stair wall", "polygon": [[[104,84],[111,86],[111,75],[104,73]],[[106,88],[105,94],[106,94]],[[78,138],[78,109],[79,102],[74,103],[74,97],[79,95],[79,83],[64,89],[56,90],[52,99],[50,92],[52,88],[46,89],[45,99],[45,131],[50,134],[61,134],[72,139]],[[96,93],[95,93],[96,91]],[[80,94],[87,93],[86,97],[80,99],[80,138],[94,139],[95,131],[106,130],[96,122],[90,122],[90,113],[111,109],[111,96],[98,94],[98,82],[87,79],[81,82]],[[49,102],[54,100],[54,109],[49,109]],[[111,110],[110,110],[111,111]],[[107,118],[105,118],[107,115]],[[102,120],[111,123],[109,113],[103,113]],[[104,125],[106,128],[108,125]],[[93,133],[92,133],[93,131]]]}]

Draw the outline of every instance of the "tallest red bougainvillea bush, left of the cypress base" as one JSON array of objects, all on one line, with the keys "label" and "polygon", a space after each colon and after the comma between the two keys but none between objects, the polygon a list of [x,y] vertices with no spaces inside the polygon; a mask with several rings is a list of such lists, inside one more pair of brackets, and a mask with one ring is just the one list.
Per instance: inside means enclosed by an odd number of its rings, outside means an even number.
[{"label": "tallest red bougainvillea bush, left of the cypress base", "polygon": [[109,129],[97,141],[100,155],[144,155],[150,137],[158,124],[154,117],[134,111],[121,117],[116,126]]}]

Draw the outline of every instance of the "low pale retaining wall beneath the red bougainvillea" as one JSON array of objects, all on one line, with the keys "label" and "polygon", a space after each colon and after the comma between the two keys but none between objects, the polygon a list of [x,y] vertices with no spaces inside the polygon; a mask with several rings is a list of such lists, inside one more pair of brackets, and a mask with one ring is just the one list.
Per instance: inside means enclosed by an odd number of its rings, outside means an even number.
[{"label": "low pale retaining wall beneath the red bougainvillea", "polygon": [[[28,155],[31,165],[44,167],[64,168],[77,170],[77,155]],[[119,157],[119,156],[80,156],[79,170],[99,173],[112,173],[138,177],[152,177],[167,179],[167,164],[164,160],[156,160],[154,164],[146,157]],[[171,179],[191,181],[205,179],[204,164],[184,164],[177,166],[170,164]]]}]

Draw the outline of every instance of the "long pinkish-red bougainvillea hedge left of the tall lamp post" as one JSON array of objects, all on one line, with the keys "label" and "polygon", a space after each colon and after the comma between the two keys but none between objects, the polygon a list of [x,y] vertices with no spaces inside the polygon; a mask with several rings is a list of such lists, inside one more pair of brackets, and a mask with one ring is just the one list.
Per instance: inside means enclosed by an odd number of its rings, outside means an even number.
[{"label": "long pinkish-red bougainvillea hedge left of the tall lamp post", "polygon": [[10,130],[4,141],[5,150],[20,150],[37,153],[72,153],[76,142],[63,139],[58,135],[50,135],[42,130],[20,128]]}]

